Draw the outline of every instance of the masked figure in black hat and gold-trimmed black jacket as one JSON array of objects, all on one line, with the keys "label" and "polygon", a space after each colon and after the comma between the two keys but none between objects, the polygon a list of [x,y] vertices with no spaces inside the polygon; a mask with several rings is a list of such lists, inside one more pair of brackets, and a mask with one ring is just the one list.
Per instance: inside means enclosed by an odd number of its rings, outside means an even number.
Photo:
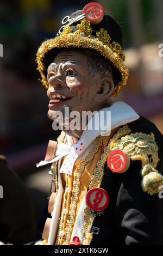
[{"label": "masked figure in black hat and gold-trimmed black jacket", "polygon": [[67,129],[59,120],[58,141],[49,141],[37,165],[52,163],[52,190],[36,245],[163,243],[162,135],[129,105],[114,101],[128,78],[121,45],[120,24],[89,3],[64,17],[57,36],[37,51],[48,117],[64,116],[66,107],[96,114],[86,123],[92,130]]}]

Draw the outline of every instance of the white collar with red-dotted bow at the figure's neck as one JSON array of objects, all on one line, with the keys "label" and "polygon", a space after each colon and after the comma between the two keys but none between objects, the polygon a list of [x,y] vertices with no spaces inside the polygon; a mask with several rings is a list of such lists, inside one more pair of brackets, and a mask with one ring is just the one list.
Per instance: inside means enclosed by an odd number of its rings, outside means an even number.
[{"label": "white collar with red-dotted bow at the figure's neck", "polygon": [[[99,115],[99,112],[103,114]],[[111,106],[103,108],[99,112],[93,115],[89,120],[82,136],[76,144],[72,144],[72,139],[69,136],[69,139],[67,139],[68,145],[64,143],[59,143],[57,145],[54,159],[51,161],[41,161],[36,164],[36,166],[39,167],[48,163],[53,163],[66,156],[60,168],[60,172],[67,173],[65,167],[68,166],[68,174],[71,174],[74,162],[78,158],[83,159],[85,157],[88,151],[92,148],[93,142],[99,135],[109,136],[111,130],[121,125],[131,123],[139,118],[139,115],[134,111],[134,109],[123,101],[112,102]],[[109,117],[109,114],[111,115],[111,118],[106,118],[107,116]],[[100,118],[98,119],[98,117]],[[90,124],[92,124],[92,130],[88,129]],[[97,125],[99,127],[98,130],[96,130]]]}]

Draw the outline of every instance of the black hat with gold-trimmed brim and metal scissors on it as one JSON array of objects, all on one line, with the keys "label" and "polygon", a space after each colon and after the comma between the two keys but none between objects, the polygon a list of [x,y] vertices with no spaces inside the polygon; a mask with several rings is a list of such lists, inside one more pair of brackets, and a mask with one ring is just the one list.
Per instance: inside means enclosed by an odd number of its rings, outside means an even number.
[{"label": "black hat with gold-trimmed brim and metal scissors on it", "polygon": [[100,54],[112,65],[115,82],[112,95],[116,95],[128,78],[128,70],[124,64],[125,56],[121,48],[123,33],[120,24],[106,14],[100,22],[92,24],[82,10],[64,17],[63,23],[64,26],[60,28],[57,36],[42,42],[37,51],[37,69],[40,71],[42,84],[48,88],[47,67],[61,48],[85,48]]}]

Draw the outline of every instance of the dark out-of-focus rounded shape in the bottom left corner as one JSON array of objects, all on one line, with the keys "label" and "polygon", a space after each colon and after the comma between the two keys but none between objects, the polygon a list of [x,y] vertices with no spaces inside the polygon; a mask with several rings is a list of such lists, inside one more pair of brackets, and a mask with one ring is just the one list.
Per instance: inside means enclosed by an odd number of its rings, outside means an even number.
[{"label": "dark out-of-focus rounded shape in the bottom left corner", "polygon": [[0,160],[0,185],[0,241],[21,245],[35,234],[34,210],[22,182],[4,160]]}]

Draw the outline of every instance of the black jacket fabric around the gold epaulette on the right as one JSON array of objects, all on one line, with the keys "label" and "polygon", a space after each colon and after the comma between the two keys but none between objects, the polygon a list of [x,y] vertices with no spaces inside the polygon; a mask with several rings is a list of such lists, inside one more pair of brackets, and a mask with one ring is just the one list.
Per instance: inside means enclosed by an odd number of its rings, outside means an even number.
[{"label": "black jacket fabric around the gold epaulette on the right", "polygon": [[[156,169],[162,174],[163,136],[154,124],[143,117],[128,124],[131,132],[153,132],[159,147],[159,163]],[[131,161],[126,173],[112,173],[105,164],[101,187],[110,197],[110,204],[93,226],[99,234],[93,235],[96,245],[163,245],[163,199],[158,194],[149,195],[141,187],[141,162]]]}]

